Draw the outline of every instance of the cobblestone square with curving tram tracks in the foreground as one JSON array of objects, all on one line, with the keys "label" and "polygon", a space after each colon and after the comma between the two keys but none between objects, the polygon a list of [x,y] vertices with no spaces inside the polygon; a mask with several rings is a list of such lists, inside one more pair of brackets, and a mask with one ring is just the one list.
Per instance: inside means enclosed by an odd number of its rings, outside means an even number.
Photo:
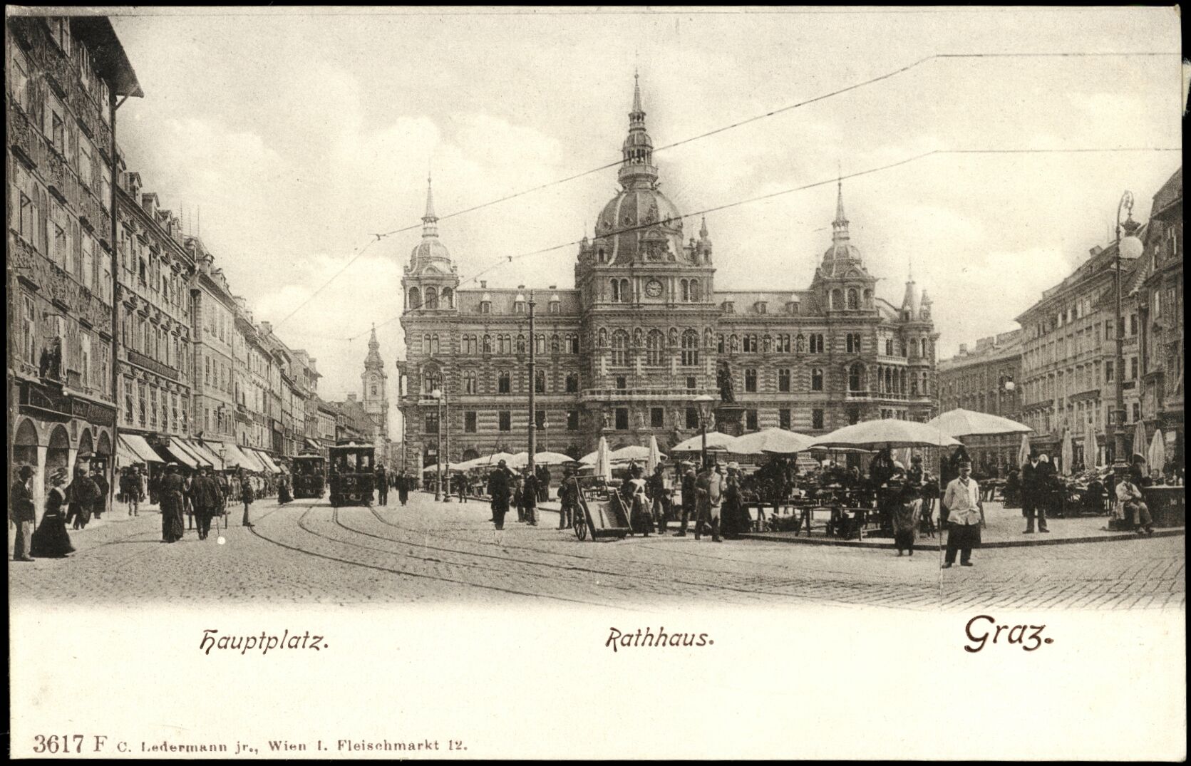
[{"label": "cobblestone square with curving tram tracks in the foreground", "polygon": [[579,542],[557,515],[528,527],[510,513],[503,540],[485,503],[332,509],[325,500],[252,506],[199,541],[161,540],[155,511],[116,513],[71,531],[68,559],[12,562],[17,602],[120,603],[185,598],[239,603],[536,600],[659,604],[843,604],[891,609],[1185,609],[1184,537],[978,550],[974,567],[940,569],[937,548],[888,550],[716,544],[693,536]]}]

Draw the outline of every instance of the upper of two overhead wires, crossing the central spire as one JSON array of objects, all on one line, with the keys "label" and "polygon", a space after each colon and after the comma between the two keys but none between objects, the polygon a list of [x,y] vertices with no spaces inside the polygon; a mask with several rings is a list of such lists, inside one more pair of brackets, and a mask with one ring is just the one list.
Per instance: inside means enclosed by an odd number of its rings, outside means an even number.
[{"label": "upper of two overhead wires, crossing the central spire", "polygon": [[[899,74],[906,73],[906,71],[909,71],[911,69],[915,69],[916,67],[919,67],[919,66],[922,66],[924,63],[928,63],[928,62],[931,62],[931,61],[936,61],[936,60],[942,60],[942,58],[1015,58],[1015,57],[1016,58],[1075,58],[1075,57],[1124,57],[1124,56],[1143,56],[1143,57],[1152,57],[1152,56],[1181,56],[1181,54],[1179,54],[1179,52],[1165,52],[1165,51],[1021,52],[1021,54],[1014,54],[1014,52],[1005,52],[1005,54],[934,54],[931,56],[927,56],[924,58],[919,58],[918,61],[915,61],[913,63],[906,64],[906,66],[900,67],[898,69],[893,69],[891,71],[887,71],[885,74],[878,75],[875,77],[869,77],[868,80],[863,80],[861,82],[856,82],[856,83],[853,83],[853,85],[849,85],[849,86],[844,86],[842,88],[837,88],[837,89],[831,91],[829,93],[823,93],[821,95],[816,95],[816,96],[806,99],[804,101],[798,101],[798,102],[794,102],[794,104],[788,104],[786,106],[782,106],[782,107],[779,107],[779,108],[765,112],[763,114],[756,114],[754,117],[749,117],[749,118],[746,118],[746,119],[742,119],[742,120],[737,120],[737,122],[731,123],[729,125],[723,125],[721,127],[716,127],[713,130],[709,130],[709,131],[699,133],[697,136],[691,136],[688,138],[682,138],[681,141],[675,141],[675,142],[669,143],[669,144],[663,144],[661,147],[656,147],[654,149],[654,151],[655,152],[666,151],[667,149],[673,149],[675,147],[681,147],[684,144],[688,144],[688,143],[692,143],[692,142],[696,142],[696,141],[701,141],[703,138],[707,138],[710,136],[715,136],[715,135],[718,135],[718,133],[722,133],[722,132],[725,132],[725,131],[729,131],[729,130],[734,130],[736,127],[741,127],[743,125],[748,125],[748,124],[755,123],[757,120],[767,119],[769,117],[775,117],[778,114],[782,114],[785,112],[799,108],[802,106],[806,106],[809,104],[815,104],[817,101],[823,101],[823,100],[834,98],[836,95],[841,95],[841,94],[848,93],[849,91],[855,91],[858,88],[862,88],[865,86],[869,86],[869,85],[880,82],[883,80],[888,80],[890,77],[894,77],[894,76],[897,76]],[[481,203],[479,205],[473,205],[470,207],[464,207],[463,210],[453,211],[453,212],[447,213],[444,216],[439,216],[438,220],[445,220],[445,219],[449,219],[449,218],[454,218],[456,216],[462,216],[462,214],[466,214],[466,213],[472,213],[472,212],[475,212],[478,210],[482,210],[485,207],[491,207],[493,205],[499,205],[501,203],[507,203],[509,200],[517,199],[518,197],[524,197],[526,194],[532,194],[534,192],[540,192],[540,191],[549,188],[551,186],[559,186],[561,183],[567,183],[567,182],[570,182],[570,181],[574,181],[574,180],[588,176],[588,175],[591,175],[593,173],[599,173],[600,170],[607,170],[610,168],[615,168],[616,166],[621,164],[622,162],[623,162],[623,158],[618,158],[618,160],[616,160],[613,162],[609,162],[606,164],[601,164],[599,167],[591,168],[590,170],[584,170],[581,173],[575,173],[573,175],[568,175],[568,176],[562,178],[562,179],[549,181],[547,183],[540,183],[538,186],[534,186],[534,187],[530,187],[528,189],[522,189],[519,192],[513,192],[512,194],[506,194],[506,195],[500,197],[498,199],[493,199],[493,200],[490,200],[490,201],[486,201],[486,203]],[[357,253],[351,257],[351,260],[349,260],[347,263],[344,263],[343,267],[339,270],[337,270],[335,274],[332,274],[331,278],[328,279],[325,284],[323,284],[318,289],[316,289],[313,293],[311,293],[311,295],[308,298],[306,298],[306,300],[304,300],[303,303],[300,303],[298,305],[298,307],[294,309],[283,319],[281,319],[281,322],[278,322],[275,326],[281,326],[285,322],[287,322],[295,313],[298,313],[298,311],[300,311],[301,309],[304,309],[311,300],[314,299],[316,295],[318,295],[319,293],[322,293],[323,289],[328,285],[330,285],[332,281],[335,281],[336,279],[338,279],[338,276],[341,274],[343,274],[343,272],[345,272],[353,263],[355,263],[356,261],[358,261],[360,257],[364,254],[364,250],[367,250],[369,245],[379,242],[382,238],[387,238],[387,237],[391,237],[391,236],[394,236],[394,235],[398,235],[398,233],[404,233],[406,231],[413,231],[414,229],[418,229],[420,226],[422,226],[422,224],[411,224],[409,226],[401,226],[399,229],[393,229],[392,231],[385,231],[385,232],[380,232],[380,233],[374,233],[373,235],[374,239],[370,239],[367,245],[363,245],[362,248],[357,248],[356,249]]]}]

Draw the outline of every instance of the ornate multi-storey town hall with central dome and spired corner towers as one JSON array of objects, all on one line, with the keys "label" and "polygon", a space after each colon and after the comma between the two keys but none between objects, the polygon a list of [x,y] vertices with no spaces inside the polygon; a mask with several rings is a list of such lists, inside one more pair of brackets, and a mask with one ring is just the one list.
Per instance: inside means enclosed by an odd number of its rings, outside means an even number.
[{"label": "ornate multi-storey town hall with central dome and spired corner towers", "polygon": [[877,279],[850,241],[842,183],[811,286],[740,292],[716,288],[713,254],[723,254],[706,222],[686,237],[659,188],[640,87],[617,175],[619,192],[579,248],[572,289],[460,289],[428,191],[422,242],[401,280],[406,469],[437,462],[435,390],[445,394],[451,461],[524,450],[530,385],[538,448],[573,456],[601,435],[612,448],[656,436],[665,450],[697,432],[693,400],[703,394],[743,430],[818,434],[934,415],[930,299],[912,280],[900,306],[875,297]]}]

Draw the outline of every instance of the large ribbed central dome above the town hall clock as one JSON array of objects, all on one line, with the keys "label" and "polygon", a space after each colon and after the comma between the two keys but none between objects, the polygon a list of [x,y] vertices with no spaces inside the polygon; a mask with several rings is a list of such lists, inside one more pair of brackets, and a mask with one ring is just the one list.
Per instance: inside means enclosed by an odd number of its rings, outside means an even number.
[{"label": "large ribbed central dome above the town hall clock", "polygon": [[607,263],[672,261],[684,255],[682,217],[656,188],[626,188],[604,206],[596,222],[596,248]]}]

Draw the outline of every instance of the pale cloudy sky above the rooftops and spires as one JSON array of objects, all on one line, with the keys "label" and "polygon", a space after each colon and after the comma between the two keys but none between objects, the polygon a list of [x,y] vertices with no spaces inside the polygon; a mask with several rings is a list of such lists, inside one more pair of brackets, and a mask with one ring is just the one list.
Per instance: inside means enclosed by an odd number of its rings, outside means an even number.
[{"label": "pale cloudy sky above the rooftops and spires", "polygon": [[[375,323],[394,432],[428,174],[463,280],[504,261],[490,286],[570,287],[575,247],[507,256],[591,233],[615,168],[448,214],[617,161],[635,70],[662,147],[986,54],[655,152],[682,213],[825,182],[707,216],[721,289],[809,286],[840,173],[928,151],[1147,149],[933,154],[843,181],[878,295],[899,304],[912,269],[941,356],[1014,329],[1109,241],[1123,191],[1145,222],[1179,166],[1153,150],[1181,147],[1179,56],[1104,55],[1177,54],[1170,8],[111,13],[145,93],[119,111],[129,169],[192,231],[201,219],[254,318],[318,360],[323,398],[361,391]],[[1098,55],[1004,56],[1041,52]]]}]

